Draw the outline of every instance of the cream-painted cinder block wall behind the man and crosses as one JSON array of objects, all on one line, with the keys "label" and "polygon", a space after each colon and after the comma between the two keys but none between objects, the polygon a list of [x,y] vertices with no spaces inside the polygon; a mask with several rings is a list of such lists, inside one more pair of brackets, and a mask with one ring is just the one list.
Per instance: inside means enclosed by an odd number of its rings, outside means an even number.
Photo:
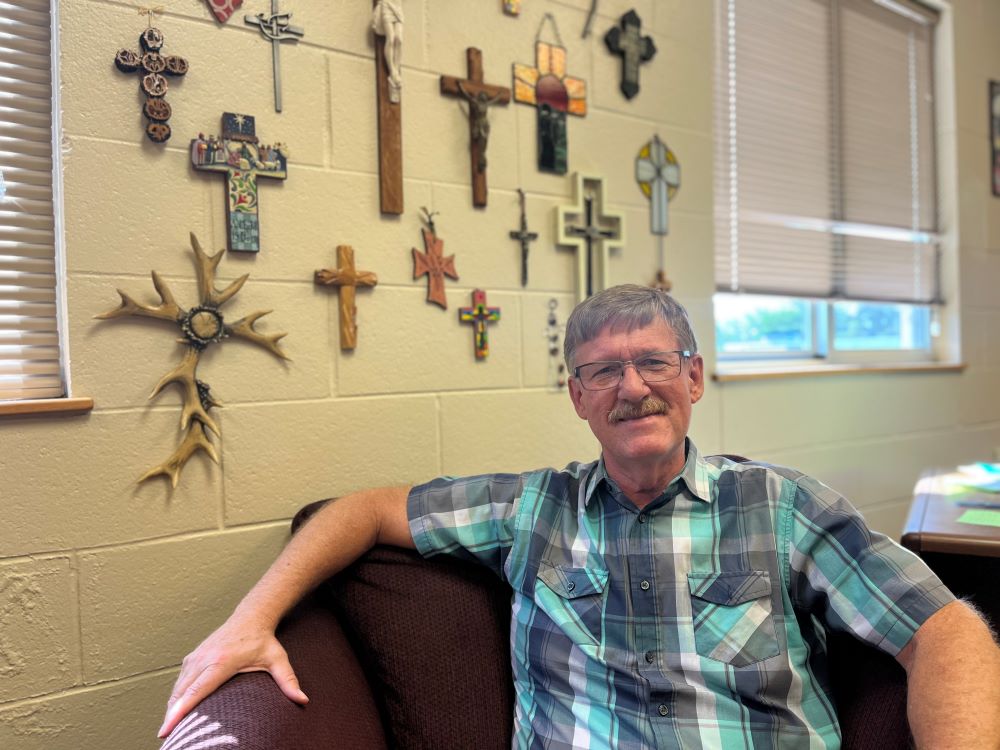
[{"label": "cream-painted cinder block wall behind the man and crosses", "polygon": [[[650,281],[656,243],[633,178],[654,133],[674,150],[683,185],[671,207],[669,272],[711,356],[713,16],[708,0],[604,0],[580,38],[588,0],[525,0],[520,18],[500,0],[404,0],[403,167],[406,212],[378,210],[374,63],[369,3],[293,2],[282,9],[305,38],[281,50],[284,112],[276,114],[271,54],[242,14],[225,26],[196,0],[167,0],[155,25],[165,51],[184,55],[171,82],[172,140],[142,135],[135,76],[112,63],[145,26],[131,3],[64,0],[60,8],[66,264],[77,418],[0,421],[0,746],[31,750],[155,747],[180,658],[220,623],[284,543],[302,504],[362,487],[441,473],[521,470],[596,456],[566,394],[553,387],[545,340],[548,301],[561,321],[574,298],[572,253],[554,245],[555,206],[570,177],[535,168],[535,113],[491,111],[490,197],[473,209],[467,125],[438,76],[465,71],[482,49],[488,82],[510,85],[513,62],[534,60],[552,13],[568,69],[588,84],[588,115],[570,118],[570,169],[604,175],[629,243],[614,282]],[[989,197],[986,80],[1000,77],[993,37],[1000,9],[956,3],[961,276],[956,299],[970,367],[963,375],[857,376],[710,384],[693,434],[728,450],[814,471],[848,492],[879,528],[897,533],[912,483],[927,465],[987,458],[1000,444],[1000,212]],[[620,62],[601,37],[635,8],[659,52],[631,102]],[[543,38],[551,39],[546,31]],[[223,111],[252,114],[265,142],[291,149],[288,180],[261,181],[259,256],[227,255],[219,285],[250,274],[227,319],[273,309],[259,327],[287,331],[292,357],[229,340],[205,353],[199,376],[224,408],[221,465],[193,459],[175,491],[135,479],[164,460],[181,433],[179,396],[147,401],[183,351],[157,321],[98,322],[114,289],[155,302],[159,271],[183,306],[196,301],[188,232],[225,245],[219,177],[196,174],[187,146],[217,133]],[[516,189],[528,193],[531,281],[519,282]],[[411,278],[418,209],[437,225],[460,275],[449,309],[424,301]],[[313,284],[335,247],[351,244],[379,276],[358,295],[359,345],[338,348],[337,296]],[[475,287],[503,309],[491,354],[476,362],[456,309]]]}]

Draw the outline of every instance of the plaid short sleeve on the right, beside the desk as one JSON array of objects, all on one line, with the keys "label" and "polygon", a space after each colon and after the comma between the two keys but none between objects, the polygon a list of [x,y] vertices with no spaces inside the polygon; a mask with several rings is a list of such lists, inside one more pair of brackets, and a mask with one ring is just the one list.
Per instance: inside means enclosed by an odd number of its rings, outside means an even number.
[{"label": "plaid short sleeve on the right, beside the desk", "polygon": [[786,523],[792,602],[831,629],[895,656],[955,599],[923,560],[810,477],[795,483]]}]

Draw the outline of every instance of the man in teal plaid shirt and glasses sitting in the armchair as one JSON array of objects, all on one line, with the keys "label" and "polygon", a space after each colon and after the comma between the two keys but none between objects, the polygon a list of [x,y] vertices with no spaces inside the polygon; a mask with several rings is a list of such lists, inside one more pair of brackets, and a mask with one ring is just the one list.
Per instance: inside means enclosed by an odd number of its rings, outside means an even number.
[{"label": "man in teal plaid shirt and glasses sitting in the armchair", "polygon": [[904,666],[918,746],[1000,748],[1000,650],[973,610],[827,487],[687,439],[704,365],[669,295],[591,297],[565,355],[599,461],[331,503],[184,660],[161,736],[236,672],[306,702],[278,621],[387,543],[513,588],[516,748],[839,747],[817,623]]}]

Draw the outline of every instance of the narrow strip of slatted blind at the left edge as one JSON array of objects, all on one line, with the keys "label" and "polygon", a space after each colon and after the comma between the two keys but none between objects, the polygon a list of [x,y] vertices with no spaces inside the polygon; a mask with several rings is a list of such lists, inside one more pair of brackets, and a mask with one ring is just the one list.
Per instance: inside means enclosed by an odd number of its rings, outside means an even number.
[{"label": "narrow strip of slatted blind at the left edge", "polygon": [[0,400],[66,395],[57,317],[51,11],[0,1]]}]

